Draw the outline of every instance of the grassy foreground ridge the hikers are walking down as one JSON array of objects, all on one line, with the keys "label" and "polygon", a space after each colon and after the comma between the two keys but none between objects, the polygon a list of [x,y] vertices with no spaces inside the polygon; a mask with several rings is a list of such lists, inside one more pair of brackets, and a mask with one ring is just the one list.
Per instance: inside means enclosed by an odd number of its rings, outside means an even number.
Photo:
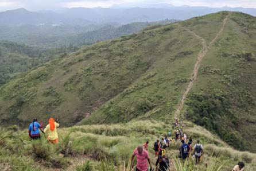
[{"label": "grassy foreground ridge the hikers are walking down", "polygon": [[[256,155],[236,151],[221,141],[216,135],[192,123],[184,130],[193,141],[200,138],[204,146],[203,162],[194,165],[189,158],[186,171],[231,170],[238,161],[245,162],[246,170],[255,170]],[[60,143],[51,145],[45,138],[41,141],[29,141],[27,130],[18,130],[11,126],[0,129],[0,169],[1,170],[102,170],[114,171],[127,168],[129,158],[138,144],[149,141],[149,156],[154,164],[156,158],[152,149],[156,139],[164,137],[170,129],[170,123],[157,121],[131,121],[112,125],[74,126],[58,129]],[[173,143],[166,150],[170,160],[170,169],[179,154],[180,142]],[[15,153],[14,153],[15,151]],[[104,167],[103,167],[104,165]],[[135,162],[131,164],[131,168]],[[205,168],[205,165],[208,168]],[[128,165],[129,166],[129,165]],[[126,171],[131,171],[127,169]]]}]

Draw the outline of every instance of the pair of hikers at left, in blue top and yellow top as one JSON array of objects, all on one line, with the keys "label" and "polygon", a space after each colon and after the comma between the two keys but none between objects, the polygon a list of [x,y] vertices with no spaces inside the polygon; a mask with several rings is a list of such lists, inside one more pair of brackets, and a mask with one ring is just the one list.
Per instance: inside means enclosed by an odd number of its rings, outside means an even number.
[{"label": "pair of hikers at left, in blue top and yellow top", "polygon": [[59,143],[59,138],[57,134],[57,127],[59,127],[59,119],[50,118],[49,124],[46,125],[45,129],[42,130],[42,121],[40,123],[37,122],[37,119],[33,119],[33,122],[29,125],[29,137],[31,139],[41,139],[40,131],[45,135],[47,135],[47,141],[53,144]]}]

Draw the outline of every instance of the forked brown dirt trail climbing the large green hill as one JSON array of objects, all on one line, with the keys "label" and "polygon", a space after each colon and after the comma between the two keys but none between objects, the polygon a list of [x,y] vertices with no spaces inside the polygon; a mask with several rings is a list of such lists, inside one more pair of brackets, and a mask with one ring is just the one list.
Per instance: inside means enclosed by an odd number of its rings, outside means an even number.
[{"label": "forked brown dirt trail climbing the large green hill", "polygon": [[207,46],[205,40],[203,37],[200,37],[199,35],[197,35],[196,33],[192,32],[191,30],[187,29],[187,28],[184,28],[184,27],[181,27],[185,30],[187,30],[189,33],[193,34],[193,36],[199,38],[201,41],[202,41],[202,49],[201,51],[199,52],[199,55],[197,57],[197,60],[196,60],[196,64],[195,64],[195,67],[193,69],[193,72],[192,72],[192,75],[191,75],[191,78],[189,80],[189,84],[188,84],[188,87],[186,89],[186,91],[183,93],[183,96],[181,98],[181,101],[180,101],[180,104],[177,108],[177,110],[175,111],[175,117],[178,119],[179,121],[179,115],[180,115],[180,111],[182,110],[183,106],[184,106],[184,103],[185,103],[185,100],[187,98],[187,95],[189,93],[189,91],[191,90],[191,88],[193,87],[193,84],[197,78],[197,73],[198,73],[198,70],[199,70],[199,66],[201,64],[201,60],[203,59],[203,57],[205,56],[205,54],[207,53],[208,51],[208,48],[210,48],[210,46],[212,44],[214,44],[214,42],[218,39],[218,37],[220,36],[220,34],[223,32],[224,30],[224,27],[226,25],[226,22],[228,20],[228,17],[230,16],[230,14],[227,15],[227,17],[223,20],[222,22],[222,27],[220,28],[219,32],[216,34],[216,36],[214,37],[214,39],[210,42],[210,44]]}]

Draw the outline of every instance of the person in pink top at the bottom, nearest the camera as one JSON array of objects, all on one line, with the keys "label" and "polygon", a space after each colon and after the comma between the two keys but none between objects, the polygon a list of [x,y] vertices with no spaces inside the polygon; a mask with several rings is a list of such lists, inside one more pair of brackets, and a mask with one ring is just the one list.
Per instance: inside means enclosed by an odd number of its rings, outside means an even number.
[{"label": "person in pink top at the bottom, nearest the camera", "polygon": [[137,157],[137,165],[136,171],[148,171],[148,162],[151,167],[149,153],[142,146],[138,146],[133,151],[133,156],[131,157],[131,161],[133,161],[134,157]]}]

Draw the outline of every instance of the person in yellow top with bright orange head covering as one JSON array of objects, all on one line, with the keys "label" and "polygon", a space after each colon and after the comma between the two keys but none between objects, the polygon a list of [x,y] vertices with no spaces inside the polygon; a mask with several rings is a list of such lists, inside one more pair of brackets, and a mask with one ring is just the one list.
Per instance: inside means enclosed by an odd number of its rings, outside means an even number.
[{"label": "person in yellow top with bright orange head covering", "polygon": [[57,134],[57,127],[59,127],[59,120],[56,119],[56,122],[53,118],[49,119],[49,124],[46,125],[44,131],[46,134],[48,134],[47,141],[51,142],[53,144],[59,143],[59,138]]}]

